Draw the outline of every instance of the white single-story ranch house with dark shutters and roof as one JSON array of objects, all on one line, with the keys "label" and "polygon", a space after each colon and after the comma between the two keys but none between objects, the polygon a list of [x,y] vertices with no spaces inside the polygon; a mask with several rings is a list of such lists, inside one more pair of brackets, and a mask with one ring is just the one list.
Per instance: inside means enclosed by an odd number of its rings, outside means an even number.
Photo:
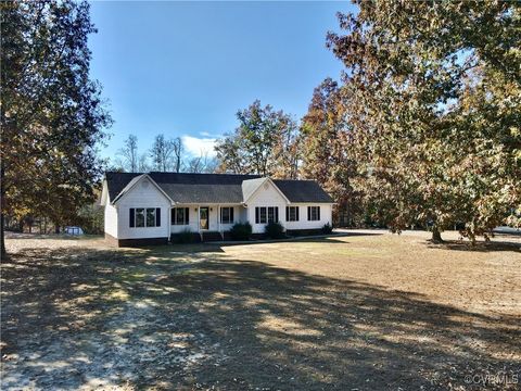
[{"label": "white single-story ranch house with dark shutters and roof", "polygon": [[279,222],[288,234],[332,224],[331,198],[314,180],[255,175],[106,173],[101,204],[105,237],[117,245],[166,243],[190,230],[200,240],[223,240],[234,223],[253,236]]}]

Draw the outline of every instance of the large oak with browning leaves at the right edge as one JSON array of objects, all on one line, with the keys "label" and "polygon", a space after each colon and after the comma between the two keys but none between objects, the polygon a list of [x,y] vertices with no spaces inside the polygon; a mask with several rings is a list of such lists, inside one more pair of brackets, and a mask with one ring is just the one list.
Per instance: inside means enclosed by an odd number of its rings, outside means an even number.
[{"label": "large oak with browning leaves at the right edge", "polygon": [[328,45],[366,202],[393,230],[486,236],[521,204],[519,4],[357,3]]}]

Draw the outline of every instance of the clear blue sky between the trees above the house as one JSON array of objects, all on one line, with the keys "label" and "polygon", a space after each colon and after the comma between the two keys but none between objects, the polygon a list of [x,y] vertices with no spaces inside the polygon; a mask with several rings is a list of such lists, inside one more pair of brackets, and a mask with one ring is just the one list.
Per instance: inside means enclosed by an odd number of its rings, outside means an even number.
[{"label": "clear blue sky between the trees above the house", "polygon": [[347,2],[93,2],[91,75],[115,121],[113,157],[130,134],[140,152],[156,134],[187,152],[212,149],[255,99],[295,118],[342,64],[326,49]]}]

